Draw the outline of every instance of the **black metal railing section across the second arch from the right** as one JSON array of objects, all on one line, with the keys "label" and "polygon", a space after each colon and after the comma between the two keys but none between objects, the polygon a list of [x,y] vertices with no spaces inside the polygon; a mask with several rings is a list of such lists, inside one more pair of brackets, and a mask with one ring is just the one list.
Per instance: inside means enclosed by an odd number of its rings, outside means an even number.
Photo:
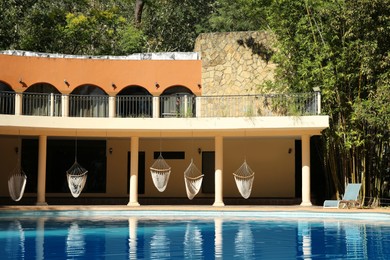
[{"label": "black metal railing section across the second arch from the right", "polygon": [[153,96],[117,96],[116,115],[117,117],[152,117]]}]

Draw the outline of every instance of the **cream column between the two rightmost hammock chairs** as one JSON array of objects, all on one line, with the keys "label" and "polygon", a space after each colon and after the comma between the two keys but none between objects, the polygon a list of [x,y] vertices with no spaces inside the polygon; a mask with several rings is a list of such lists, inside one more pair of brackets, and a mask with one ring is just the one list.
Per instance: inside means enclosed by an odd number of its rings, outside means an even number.
[{"label": "cream column between the two rightmost hammock chairs", "polygon": [[215,201],[213,206],[223,203],[223,137],[215,137]]}]

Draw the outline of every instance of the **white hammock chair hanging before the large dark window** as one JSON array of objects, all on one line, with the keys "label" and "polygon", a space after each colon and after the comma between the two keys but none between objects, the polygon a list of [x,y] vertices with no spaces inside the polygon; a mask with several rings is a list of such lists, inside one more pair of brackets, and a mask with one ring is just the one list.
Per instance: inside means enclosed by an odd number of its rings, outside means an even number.
[{"label": "white hammock chair hanging before the large dark window", "polygon": [[87,182],[87,173],[88,171],[78,164],[77,161],[66,171],[69,190],[73,197],[77,198],[84,189],[85,183]]}]

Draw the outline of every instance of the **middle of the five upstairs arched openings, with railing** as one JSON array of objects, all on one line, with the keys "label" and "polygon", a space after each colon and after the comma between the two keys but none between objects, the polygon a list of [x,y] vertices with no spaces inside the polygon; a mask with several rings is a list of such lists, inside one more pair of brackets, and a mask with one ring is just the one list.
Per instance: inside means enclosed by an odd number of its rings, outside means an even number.
[{"label": "middle of the five upstairs arched openings, with railing", "polygon": [[69,95],[69,116],[107,117],[107,93],[94,85],[82,85],[75,88]]}]

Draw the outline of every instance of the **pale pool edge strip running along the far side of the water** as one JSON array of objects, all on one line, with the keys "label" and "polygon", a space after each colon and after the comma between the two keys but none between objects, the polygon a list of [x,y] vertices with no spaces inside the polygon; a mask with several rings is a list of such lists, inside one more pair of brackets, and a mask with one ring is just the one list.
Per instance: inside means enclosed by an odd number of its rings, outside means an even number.
[{"label": "pale pool edge strip running along the far side of the water", "polygon": [[[77,213],[76,213],[77,212]],[[320,206],[204,206],[204,205],[47,205],[0,206],[0,216],[48,217],[229,217],[310,218],[389,221],[390,208],[329,209]]]}]

